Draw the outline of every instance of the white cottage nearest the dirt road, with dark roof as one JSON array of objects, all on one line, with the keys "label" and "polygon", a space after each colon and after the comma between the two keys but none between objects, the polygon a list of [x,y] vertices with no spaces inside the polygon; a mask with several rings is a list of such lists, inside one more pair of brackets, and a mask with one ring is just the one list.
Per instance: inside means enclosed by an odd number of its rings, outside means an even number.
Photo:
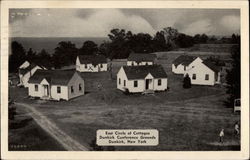
[{"label": "white cottage nearest the dirt road, with dark roof", "polygon": [[68,101],[84,95],[84,80],[75,70],[37,70],[28,91],[31,97]]}]

